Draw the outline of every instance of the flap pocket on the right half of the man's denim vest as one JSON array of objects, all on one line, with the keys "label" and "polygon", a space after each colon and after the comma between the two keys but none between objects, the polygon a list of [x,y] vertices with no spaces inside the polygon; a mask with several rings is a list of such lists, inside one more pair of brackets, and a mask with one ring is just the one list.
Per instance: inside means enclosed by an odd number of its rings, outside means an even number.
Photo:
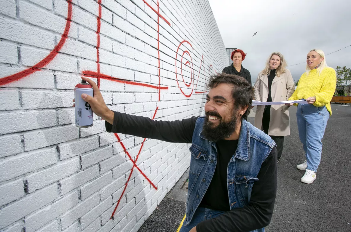
[{"label": "flap pocket on the right half of the man's denim vest", "polygon": [[252,186],[258,178],[250,177],[246,175],[236,176],[235,179],[236,190],[241,203],[245,206],[250,202]]}]

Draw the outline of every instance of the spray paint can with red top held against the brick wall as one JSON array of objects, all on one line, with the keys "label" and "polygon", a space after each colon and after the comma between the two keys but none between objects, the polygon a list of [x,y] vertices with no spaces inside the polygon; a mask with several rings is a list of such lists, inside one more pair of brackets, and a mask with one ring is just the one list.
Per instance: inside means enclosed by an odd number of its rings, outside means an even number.
[{"label": "spray paint can with red top held against the brick wall", "polygon": [[94,121],[93,111],[88,102],[84,101],[81,95],[85,93],[93,97],[93,87],[85,80],[77,84],[74,88],[75,102],[75,125],[77,127],[91,127]]}]

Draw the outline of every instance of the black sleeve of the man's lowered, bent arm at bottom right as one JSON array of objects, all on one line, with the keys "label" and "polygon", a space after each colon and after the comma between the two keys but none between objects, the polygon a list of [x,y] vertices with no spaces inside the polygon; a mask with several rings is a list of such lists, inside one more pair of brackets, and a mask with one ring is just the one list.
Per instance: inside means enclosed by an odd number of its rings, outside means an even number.
[{"label": "black sleeve of the man's lowered, bent arm at bottom right", "polygon": [[202,221],[196,226],[196,231],[245,232],[267,226],[272,218],[277,194],[277,166],[277,149],[273,147],[261,165],[258,181],[253,184],[249,205],[234,208],[216,218]]}]

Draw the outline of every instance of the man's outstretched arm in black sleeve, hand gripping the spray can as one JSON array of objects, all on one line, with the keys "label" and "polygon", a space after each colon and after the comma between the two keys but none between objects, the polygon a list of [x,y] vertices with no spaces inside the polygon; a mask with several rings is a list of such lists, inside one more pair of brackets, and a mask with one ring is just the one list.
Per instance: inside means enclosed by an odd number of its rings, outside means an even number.
[{"label": "man's outstretched arm in black sleeve, hand gripping the spray can", "polygon": [[82,94],[82,98],[89,102],[96,115],[106,121],[107,132],[130,134],[167,142],[191,143],[197,117],[176,121],[157,121],[114,112],[106,106],[95,82],[85,77],[82,77],[82,79],[86,80],[94,91],[94,97]]}]

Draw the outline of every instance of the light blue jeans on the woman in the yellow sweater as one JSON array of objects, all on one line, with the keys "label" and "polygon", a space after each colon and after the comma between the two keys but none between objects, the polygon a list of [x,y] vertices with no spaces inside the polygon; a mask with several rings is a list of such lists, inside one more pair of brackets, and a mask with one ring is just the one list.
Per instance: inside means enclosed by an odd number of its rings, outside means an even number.
[{"label": "light blue jeans on the woman in the yellow sweater", "polygon": [[317,171],[322,155],[322,138],[329,119],[325,106],[299,104],[296,112],[300,141],[307,160],[307,169]]}]

